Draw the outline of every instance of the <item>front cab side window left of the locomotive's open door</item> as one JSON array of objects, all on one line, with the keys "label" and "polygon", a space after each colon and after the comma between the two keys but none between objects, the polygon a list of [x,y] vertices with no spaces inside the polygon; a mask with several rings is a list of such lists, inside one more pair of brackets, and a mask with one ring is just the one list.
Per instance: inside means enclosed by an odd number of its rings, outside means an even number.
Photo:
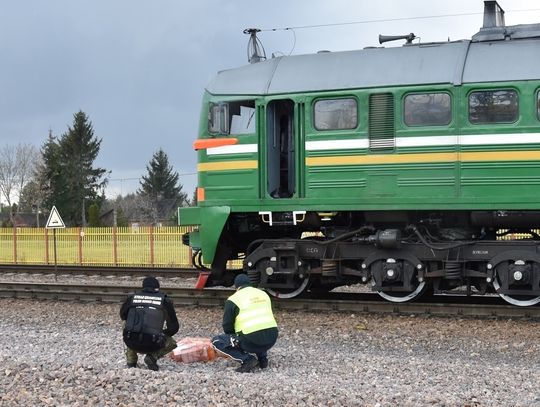
[{"label": "front cab side window left of the locomotive's open door", "polygon": [[208,109],[208,132],[211,134],[255,133],[255,102],[211,103]]}]

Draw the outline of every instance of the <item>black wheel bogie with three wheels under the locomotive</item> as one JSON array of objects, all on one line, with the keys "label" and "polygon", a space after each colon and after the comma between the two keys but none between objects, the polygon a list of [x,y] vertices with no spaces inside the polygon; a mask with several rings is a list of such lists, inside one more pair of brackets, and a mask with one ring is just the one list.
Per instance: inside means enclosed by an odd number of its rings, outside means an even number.
[{"label": "black wheel bogie with three wheels under the locomotive", "polygon": [[[383,231],[394,234],[396,231]],[[540,302],[540,256],[532,242],[472,243],[461,250],[432,250],[422,243],[377,244],[311,240],[265,241],[245,259],[252,282],[276,297],[294,297],[341,285],[369,283],[392,302],[465,287],[467,294],[497,292],[514,305]]]}]

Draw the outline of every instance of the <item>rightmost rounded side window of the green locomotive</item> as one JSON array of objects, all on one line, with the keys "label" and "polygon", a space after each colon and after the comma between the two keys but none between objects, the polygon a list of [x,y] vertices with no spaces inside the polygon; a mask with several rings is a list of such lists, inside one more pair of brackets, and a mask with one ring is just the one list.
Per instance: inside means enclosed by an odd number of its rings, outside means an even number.
[{"label": "rightmost rounded side window of the green locomotive", "polygon": [[469,95],[471,123],[513,123],[518,115],[518,94],[515,90],[486,90]]}]

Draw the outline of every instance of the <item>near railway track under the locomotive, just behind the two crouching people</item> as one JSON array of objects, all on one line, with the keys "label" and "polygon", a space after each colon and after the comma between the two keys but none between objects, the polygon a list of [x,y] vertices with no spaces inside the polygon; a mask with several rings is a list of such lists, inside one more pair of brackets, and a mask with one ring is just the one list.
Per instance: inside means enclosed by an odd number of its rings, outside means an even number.
[{"label": "near railway track under the locomotive, just behind the two crouching people", "polygon": [[[0,282],[1,298],[33,298],[61,301],[100,301],[119,303],[138,287],[126,285],[72,285],[50,283]],[[163,287],[175,304],[185,306],[222,306],[233,290]],[[354,312],[394,315],[458,316],[477,318],[540,319],[540,307],[516,307],[497,303],[494,297],[478,297],[471,304],[461,297],[431,297],[434,302],[391,303],[372,294],[330,293],[323,298],[272,300],[275,309],[312,312]]]}]

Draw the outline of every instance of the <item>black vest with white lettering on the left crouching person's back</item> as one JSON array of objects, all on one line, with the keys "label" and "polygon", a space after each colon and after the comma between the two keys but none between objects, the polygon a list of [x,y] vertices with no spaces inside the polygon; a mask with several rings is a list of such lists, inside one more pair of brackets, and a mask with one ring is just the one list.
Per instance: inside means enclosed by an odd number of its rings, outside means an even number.
[{"label": "black vest with white lettering on the left crouching person's back", "polygon": [[124,327],[125,344],[139,353],[155,352],[165,346],[165,311],[161,294],[138,293],[132,298]]}]

